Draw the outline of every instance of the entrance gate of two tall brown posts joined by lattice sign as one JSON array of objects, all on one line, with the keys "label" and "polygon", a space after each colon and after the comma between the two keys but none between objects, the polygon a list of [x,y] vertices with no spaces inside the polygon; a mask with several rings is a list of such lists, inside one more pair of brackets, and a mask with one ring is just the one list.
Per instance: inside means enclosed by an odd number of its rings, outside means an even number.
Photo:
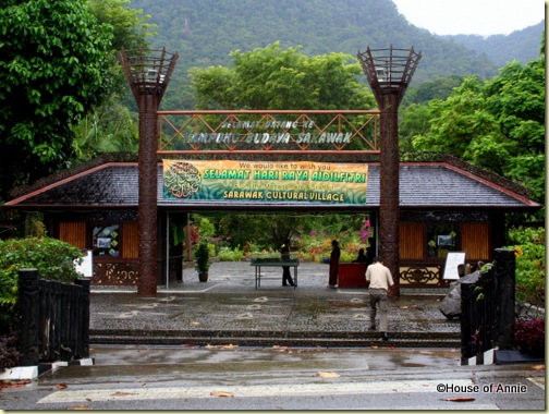
[{"label": "entrance gate of two tall brown posts joined by lattice sign", "polygon": [[[389,269],[395,275],[395,289],[393,294],[399,294],[399,260],[398,260],[398,223],[399,223],[399,158],[396,112],[400,101],[404,96],[412,75],[420,59],[420,53],[414,49],[367,49],[365,53],[358,53],[364,73],[374,90],[374,95],[381,109],[381,183],[383,184],[380,207],[381,254],[386,256]],[[157,208],[155,192],[157,190],[156,155],[151,146],[156,136],[159,136],[158,150],[172,151],[171,155],[184,154],[183,151],[203,151],[203,146],[211,144],[209,151],[220,154],[237,154],[241,150],[260,150],[279,154],[291,154],[297,150],[303,155],[312,150],[318,144],[315,151],[350,150],[378,151],[377,139],[364,139],[362,127],[355,129],[346,121],[346,117],[338,114],[328,122],[321,122],[321,113],[318,119],[310,119],[305,114],[293,120],[278,120],[268,111],[258,111],[258,120],[246,119],[246,113],[220,114],[216,119],[215,113],[193,115],[187,113],[188,119],[172,127],[173,132],[167,138],[162,135],[162,127],[158,125],[158,108],[162,96],[168,87],[170,76],[175,66],[179,54],[161,51],[151,51],[145,56],[143,51],[129,54],[125,50],[120,53],[125,75],[139,108],[139,294],[156,294],[156,235],[157,235]],[[297,111],[298,112],[298,111]],[[271,112],[273,113],[273,112]],[[279,114],[290,115],[292,112]],[[295,112],[294,112],[295,113]],[[356,113],[356,112],[355,112]],[[166,113],[168,115],[170,113]],[[172,112],[174,114],[174,112]],[[312,113],[313,114],[313,113]],[[356,113],[358,114],[358,113]],[[364,113],[366,114],[366,113]],[[211,115],[213,120],[206,118]],[[222,117],[225,115],[223,119]],[[253,115],[253,113],[248,113]],[[164,117],[166,119],[166,117]],[[338,120],[338,122],[335,122]],[[318,127],[318,124],[324,126]],[[174,123],[171,123],[175,125]],[[368,123],[366,123],[368,124]],[[197,126],[206,126],[205,132],[196,130]],[[290,130],[296,130],[292,134]],[[236,131],[235,131],[236,130]],[[310,131],[308,131],[310,130]],[[345,131],[342,131],[345,130]],[[367,129],[366,129],[367,130]],[[373,129],[376,136],[377,129]],[[158,134],[160,132],[160,134]],[[362,137],[363,142],[353,147],[353,137]],[[167,149],[173,144],[174,149]],[[279,144],[284,144],[285,149],[276,149]],[[257,145],[263,146],[257,149]],[[313,145],[313,147],[310,147]],[[369,147],[368,147],[369,146]],[[291,148],[293,147],[293,148]],[[289,149],[290,148],[290,149]],[[206,149],[206,148],[205,148]],[[205,153],[206,154],[206,153]],[[212,155],[216,153],[210,153]],[[396,183],[390,183],[390,180]]]}]

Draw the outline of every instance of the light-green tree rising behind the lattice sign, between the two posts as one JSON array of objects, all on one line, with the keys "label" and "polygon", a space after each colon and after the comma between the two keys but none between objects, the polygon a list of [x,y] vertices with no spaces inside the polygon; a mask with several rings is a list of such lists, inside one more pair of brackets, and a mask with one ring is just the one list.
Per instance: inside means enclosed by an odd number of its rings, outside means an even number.
[{"label": "light-green tree rising behind the lattice sign, between the two posts", "polygon": [[277,41],[231,52],[231,68],[192,68],[200,109],[368,109],[375,105],[356,59],[344,53],[306,57]]}]

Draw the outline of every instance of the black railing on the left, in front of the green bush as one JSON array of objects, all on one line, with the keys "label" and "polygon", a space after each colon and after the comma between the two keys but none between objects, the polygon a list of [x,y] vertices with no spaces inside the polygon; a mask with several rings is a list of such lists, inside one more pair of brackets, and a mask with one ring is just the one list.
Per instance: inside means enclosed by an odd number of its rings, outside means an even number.
[{"label": "black railing on the left, in front of the green bush", "polygon": [[89,356],[89,280],[74,284],[19,272],[21,365]]}]

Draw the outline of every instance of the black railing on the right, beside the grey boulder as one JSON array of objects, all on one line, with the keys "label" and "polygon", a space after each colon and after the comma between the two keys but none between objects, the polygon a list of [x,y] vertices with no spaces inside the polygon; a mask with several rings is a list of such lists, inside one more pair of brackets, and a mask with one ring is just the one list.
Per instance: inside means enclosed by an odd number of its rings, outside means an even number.
[{"label": "black railing on the right, beside the grey boulder", "polygon": [[495,264],[475,283],[461,285],[462,364],[483,364],[489,350],[512,349],[515,321],[514,251],[497,248]]}]

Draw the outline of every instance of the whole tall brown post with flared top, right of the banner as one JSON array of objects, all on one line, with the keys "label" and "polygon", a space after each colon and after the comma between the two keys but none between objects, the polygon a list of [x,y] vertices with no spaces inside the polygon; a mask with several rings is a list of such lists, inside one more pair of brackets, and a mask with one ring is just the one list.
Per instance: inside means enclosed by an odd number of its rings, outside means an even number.
[{"label": "whole tall brown post with flared top, right of the banner", "polygon": [[370,49],[357,58],[381,112],[380,137],[380,254],[394,278],[391,296],[400,295],[399,266],[399,105],[412,80],[422,53],[411,49]]}]

